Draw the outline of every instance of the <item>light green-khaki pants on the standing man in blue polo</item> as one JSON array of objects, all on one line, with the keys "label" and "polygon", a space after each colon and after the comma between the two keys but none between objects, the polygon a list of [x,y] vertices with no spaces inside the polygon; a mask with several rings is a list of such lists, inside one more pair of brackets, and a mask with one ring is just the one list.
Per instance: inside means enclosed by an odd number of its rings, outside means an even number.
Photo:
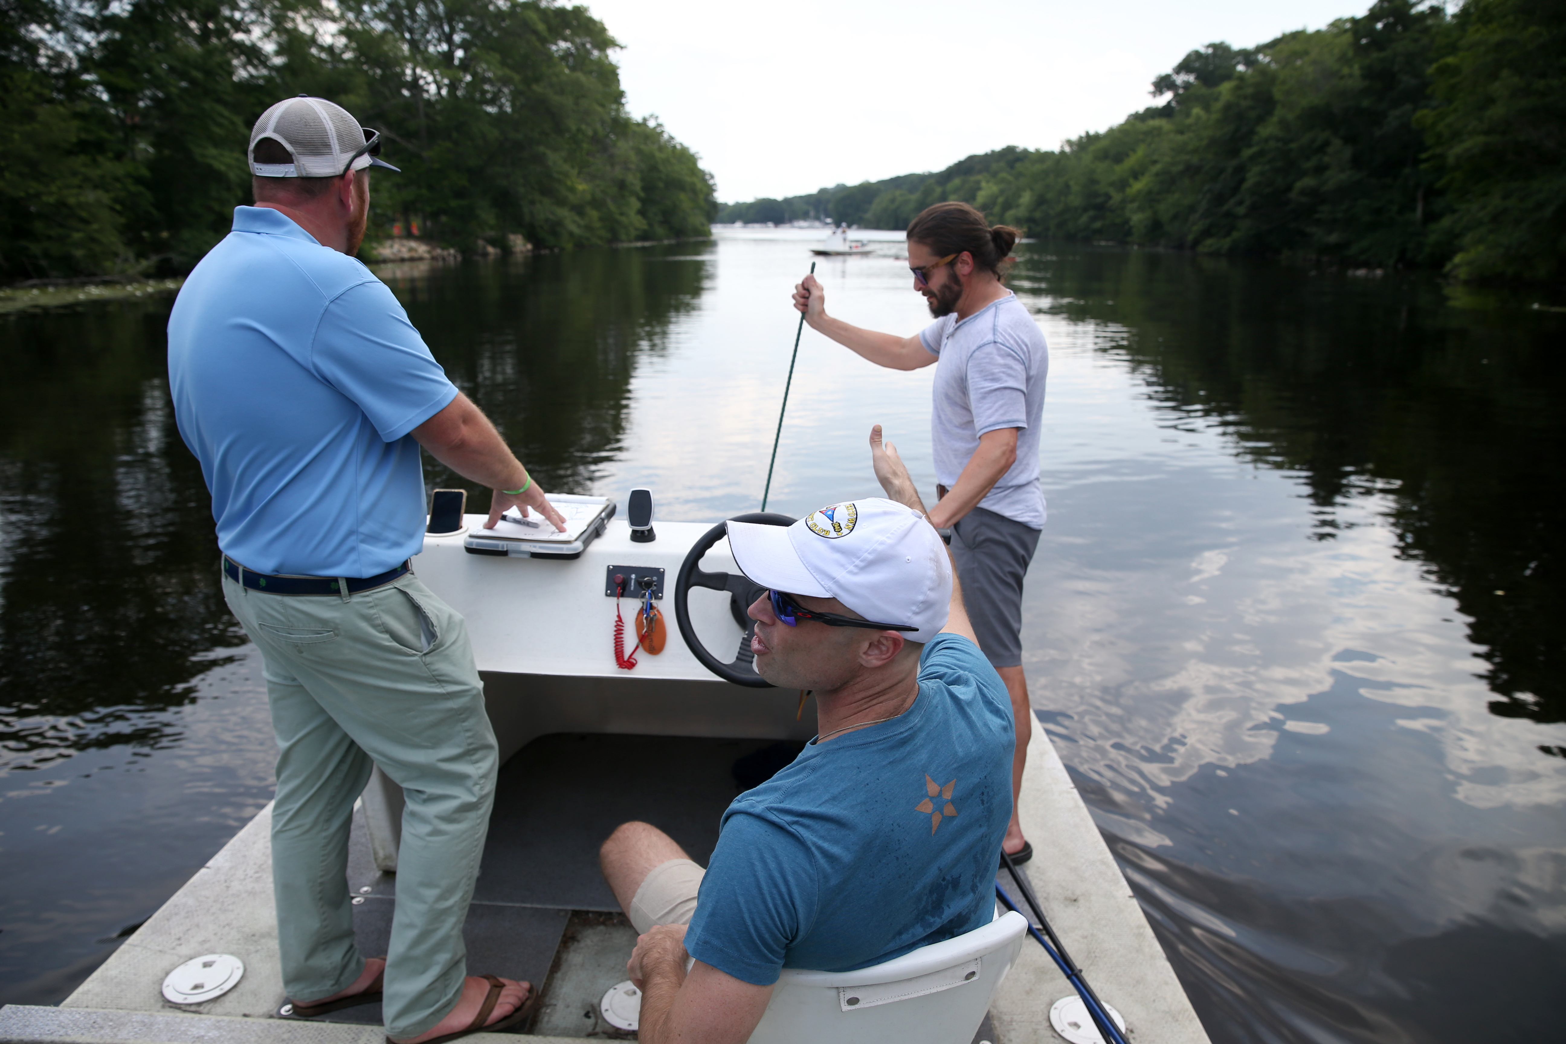
[{"label": "light green-khaki pants on the standing man in blue polo", "polygon": [[467,628],[412,573],[348,598],[222,581],[262,650],[277,733],[272,889],[294,1002],[363,970],[348,894],[354,801],[381,765],[407,801],[385,970],[385,1028],[418,1036],[462,995],[467,919],[498,753]]}]

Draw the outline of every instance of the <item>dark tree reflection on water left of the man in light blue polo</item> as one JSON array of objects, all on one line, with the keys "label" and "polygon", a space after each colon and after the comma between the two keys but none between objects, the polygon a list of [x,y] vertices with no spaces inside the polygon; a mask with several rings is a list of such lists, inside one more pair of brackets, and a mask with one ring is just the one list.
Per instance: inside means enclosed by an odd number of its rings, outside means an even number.
[{"label": "dark tree reflection on water left of the man in light blue polo", "polygon": [[171,736],[164,712],[244,639],[169,409],[168,302],[0,332],[0,769]]}]

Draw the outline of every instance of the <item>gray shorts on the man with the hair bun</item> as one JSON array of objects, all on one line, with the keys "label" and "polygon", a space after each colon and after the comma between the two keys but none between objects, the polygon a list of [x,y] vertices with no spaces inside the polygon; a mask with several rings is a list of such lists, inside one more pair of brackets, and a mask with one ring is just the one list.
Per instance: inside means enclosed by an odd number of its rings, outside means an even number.
[{"label": "gray shorts on the man with the hair bun", "polygon": [[963,607],[991,667],[1023,662],[1023,578],[1038,549],[1038,532],[983,507],[952,526]]}]

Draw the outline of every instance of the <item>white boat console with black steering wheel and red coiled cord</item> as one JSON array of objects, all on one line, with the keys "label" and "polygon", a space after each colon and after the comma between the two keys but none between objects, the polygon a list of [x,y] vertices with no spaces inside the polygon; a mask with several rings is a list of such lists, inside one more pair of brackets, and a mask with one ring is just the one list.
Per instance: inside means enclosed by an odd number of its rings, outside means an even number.
[{"label": "white boat console with black steering wheel and red coiled cord", "polygon": [[[734,567],[722,523],[659,521],[658,538],[639,542],[628,521],[611,518],[570,557],[471,554],[495,540],[485,518],[467,515],[462,531],[426,537],[413,571],[467,620],[503,764],[551,734],[769,743],[816,734],[800,693],[755,673],[744,610],[761,589]],[[636,648],[630,625],[648,596],[678,625],[658,654]],[[620,667],[617,623],[634,667]],[[384,872],[396,870],[401,814],[401,790],[377,770],[365,815]]]}]

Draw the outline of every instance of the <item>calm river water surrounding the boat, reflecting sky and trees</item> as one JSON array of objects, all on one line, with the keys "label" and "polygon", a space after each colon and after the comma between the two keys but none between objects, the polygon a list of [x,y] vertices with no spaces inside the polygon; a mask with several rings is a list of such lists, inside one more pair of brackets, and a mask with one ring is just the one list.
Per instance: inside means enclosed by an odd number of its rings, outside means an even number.
[{"label": "calm river water surrounding the boat, reflecting sky and trees", "polygon": [[[883,238],[817,275],[911,333]],[[705,521],[761,499],[811,239],[382,274],[547,488]],[[1566,315],[1062,244],[1012,285],[1051,346],[1034,706],[1214,1041],[1553,1038]],[[0,319],[0,1002],[61,1000],[271,797],[168,307]],[[877,491],[877,421],[932,485],[932,376],[806,330],[769,507]]]}]

